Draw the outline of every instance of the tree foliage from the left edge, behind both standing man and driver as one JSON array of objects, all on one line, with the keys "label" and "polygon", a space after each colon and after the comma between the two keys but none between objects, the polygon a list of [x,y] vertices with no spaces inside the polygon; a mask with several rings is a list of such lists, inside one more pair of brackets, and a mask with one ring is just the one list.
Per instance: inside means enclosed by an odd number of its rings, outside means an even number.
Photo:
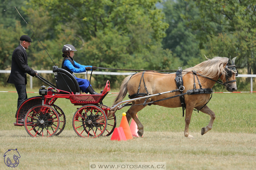
[{"label": "tree foliage from the left edge, behind both standing man and driver", "polygon": [[[74,59],[84,65],[159,70],[170,68],[168,64],[173,59],[176,60],[170,51],[161,48],[161,40],[168,24],[163,22],[162,10],[155,7],[158,0],[19,2],[22,5],[17,9],[22,11],[22,15],[52,59],[25,24],[18,27],[23,30],[22,33],[16,31],[14,36],[10,31],[15,45],[8,48],[9,62],[2,69],[11,66],[10,55],[22,34],[30,35],[33,41],[27,52],[29,65],[38,70],[52,69],[52,61],[60,67],[63,59],[61,49],[64,44],[72,44],[78,49]],[[16,11],[12,10],[4,17],[11,18],[14,13]],[[25,22],[18,20],[17,23]],[[3,27],[10,30],[15,28],[8,25]],[[3,34],[4,38],[7,34]],[[154,56],[156,53],[159,56]],[[2,60],[3,57],[0,58]],[[105,85],[106,79],[109,79],[109,76],[102,76],[101,80],[97,80],[97,85]],[[111,80],[121,81],[117,76],[111,77]]]}]

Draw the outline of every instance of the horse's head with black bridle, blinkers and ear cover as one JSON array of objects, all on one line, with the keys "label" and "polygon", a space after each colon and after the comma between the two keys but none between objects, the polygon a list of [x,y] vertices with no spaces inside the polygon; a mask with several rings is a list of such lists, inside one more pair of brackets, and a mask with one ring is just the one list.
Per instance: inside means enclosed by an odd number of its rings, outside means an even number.
[{"label": "horse's head with black bridle, blinkers and ear cover", "polygon": [[237,90],[236,87],[236,76],[238,75],[238,71],[235,65],[235,58],[231,60],[229,58],[228,63],[224,67],[226,74],[221,76],[221,80],[223,84],[226,86],[226,90],[233,92]]}]

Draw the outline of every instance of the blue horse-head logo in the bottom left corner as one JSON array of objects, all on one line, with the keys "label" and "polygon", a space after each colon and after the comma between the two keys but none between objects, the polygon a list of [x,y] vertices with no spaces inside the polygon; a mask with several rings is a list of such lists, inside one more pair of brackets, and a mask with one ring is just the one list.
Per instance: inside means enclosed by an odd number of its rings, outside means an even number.
[{"label": "blue horse-head logo in the bottom left corner", "polygon": [[20,154],[17,151],[17,149],[15,149],[15,150],[9,149],[4,154],[5,165],[14,168],[14,167],[18,166],[19,158],[20,158]]}]

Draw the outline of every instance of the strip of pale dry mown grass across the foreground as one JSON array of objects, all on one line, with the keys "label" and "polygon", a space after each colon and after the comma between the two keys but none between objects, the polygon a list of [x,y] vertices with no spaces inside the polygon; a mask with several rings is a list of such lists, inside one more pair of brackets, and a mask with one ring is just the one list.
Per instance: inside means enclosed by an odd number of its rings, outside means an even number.
[{"label": "strip of pale dry mown grass across the foreground", "polygon": [[[256,135],[249,133],[146,132],[143,138],[111,141],[80,138],[64,131],[32,138],[25,130],[0,131],[0,150],[18,149],[16,169],[89,169],[89,162],[167,162],[167,169],[255,169]],[[0,169],[6,169],[3,157]]]}]

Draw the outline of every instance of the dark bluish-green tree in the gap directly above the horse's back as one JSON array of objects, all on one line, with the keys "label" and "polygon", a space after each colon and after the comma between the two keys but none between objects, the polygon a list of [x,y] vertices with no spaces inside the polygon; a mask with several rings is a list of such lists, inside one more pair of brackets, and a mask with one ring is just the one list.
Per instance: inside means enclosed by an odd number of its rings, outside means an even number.
[{"label": "dark bluish-green tree in the gap directly above the horse's back", "polygon": [[[163,48],[170,49],[183,63],[180,66],[192,67],[202,61],[199,49],[199,31],[193,30],[188,21],[197,19],[199,11],[193,1],[164,1],[165,21],[169,24],[167,36],[163,39]],[[205,58],[204,58],[205,59]]]}]

